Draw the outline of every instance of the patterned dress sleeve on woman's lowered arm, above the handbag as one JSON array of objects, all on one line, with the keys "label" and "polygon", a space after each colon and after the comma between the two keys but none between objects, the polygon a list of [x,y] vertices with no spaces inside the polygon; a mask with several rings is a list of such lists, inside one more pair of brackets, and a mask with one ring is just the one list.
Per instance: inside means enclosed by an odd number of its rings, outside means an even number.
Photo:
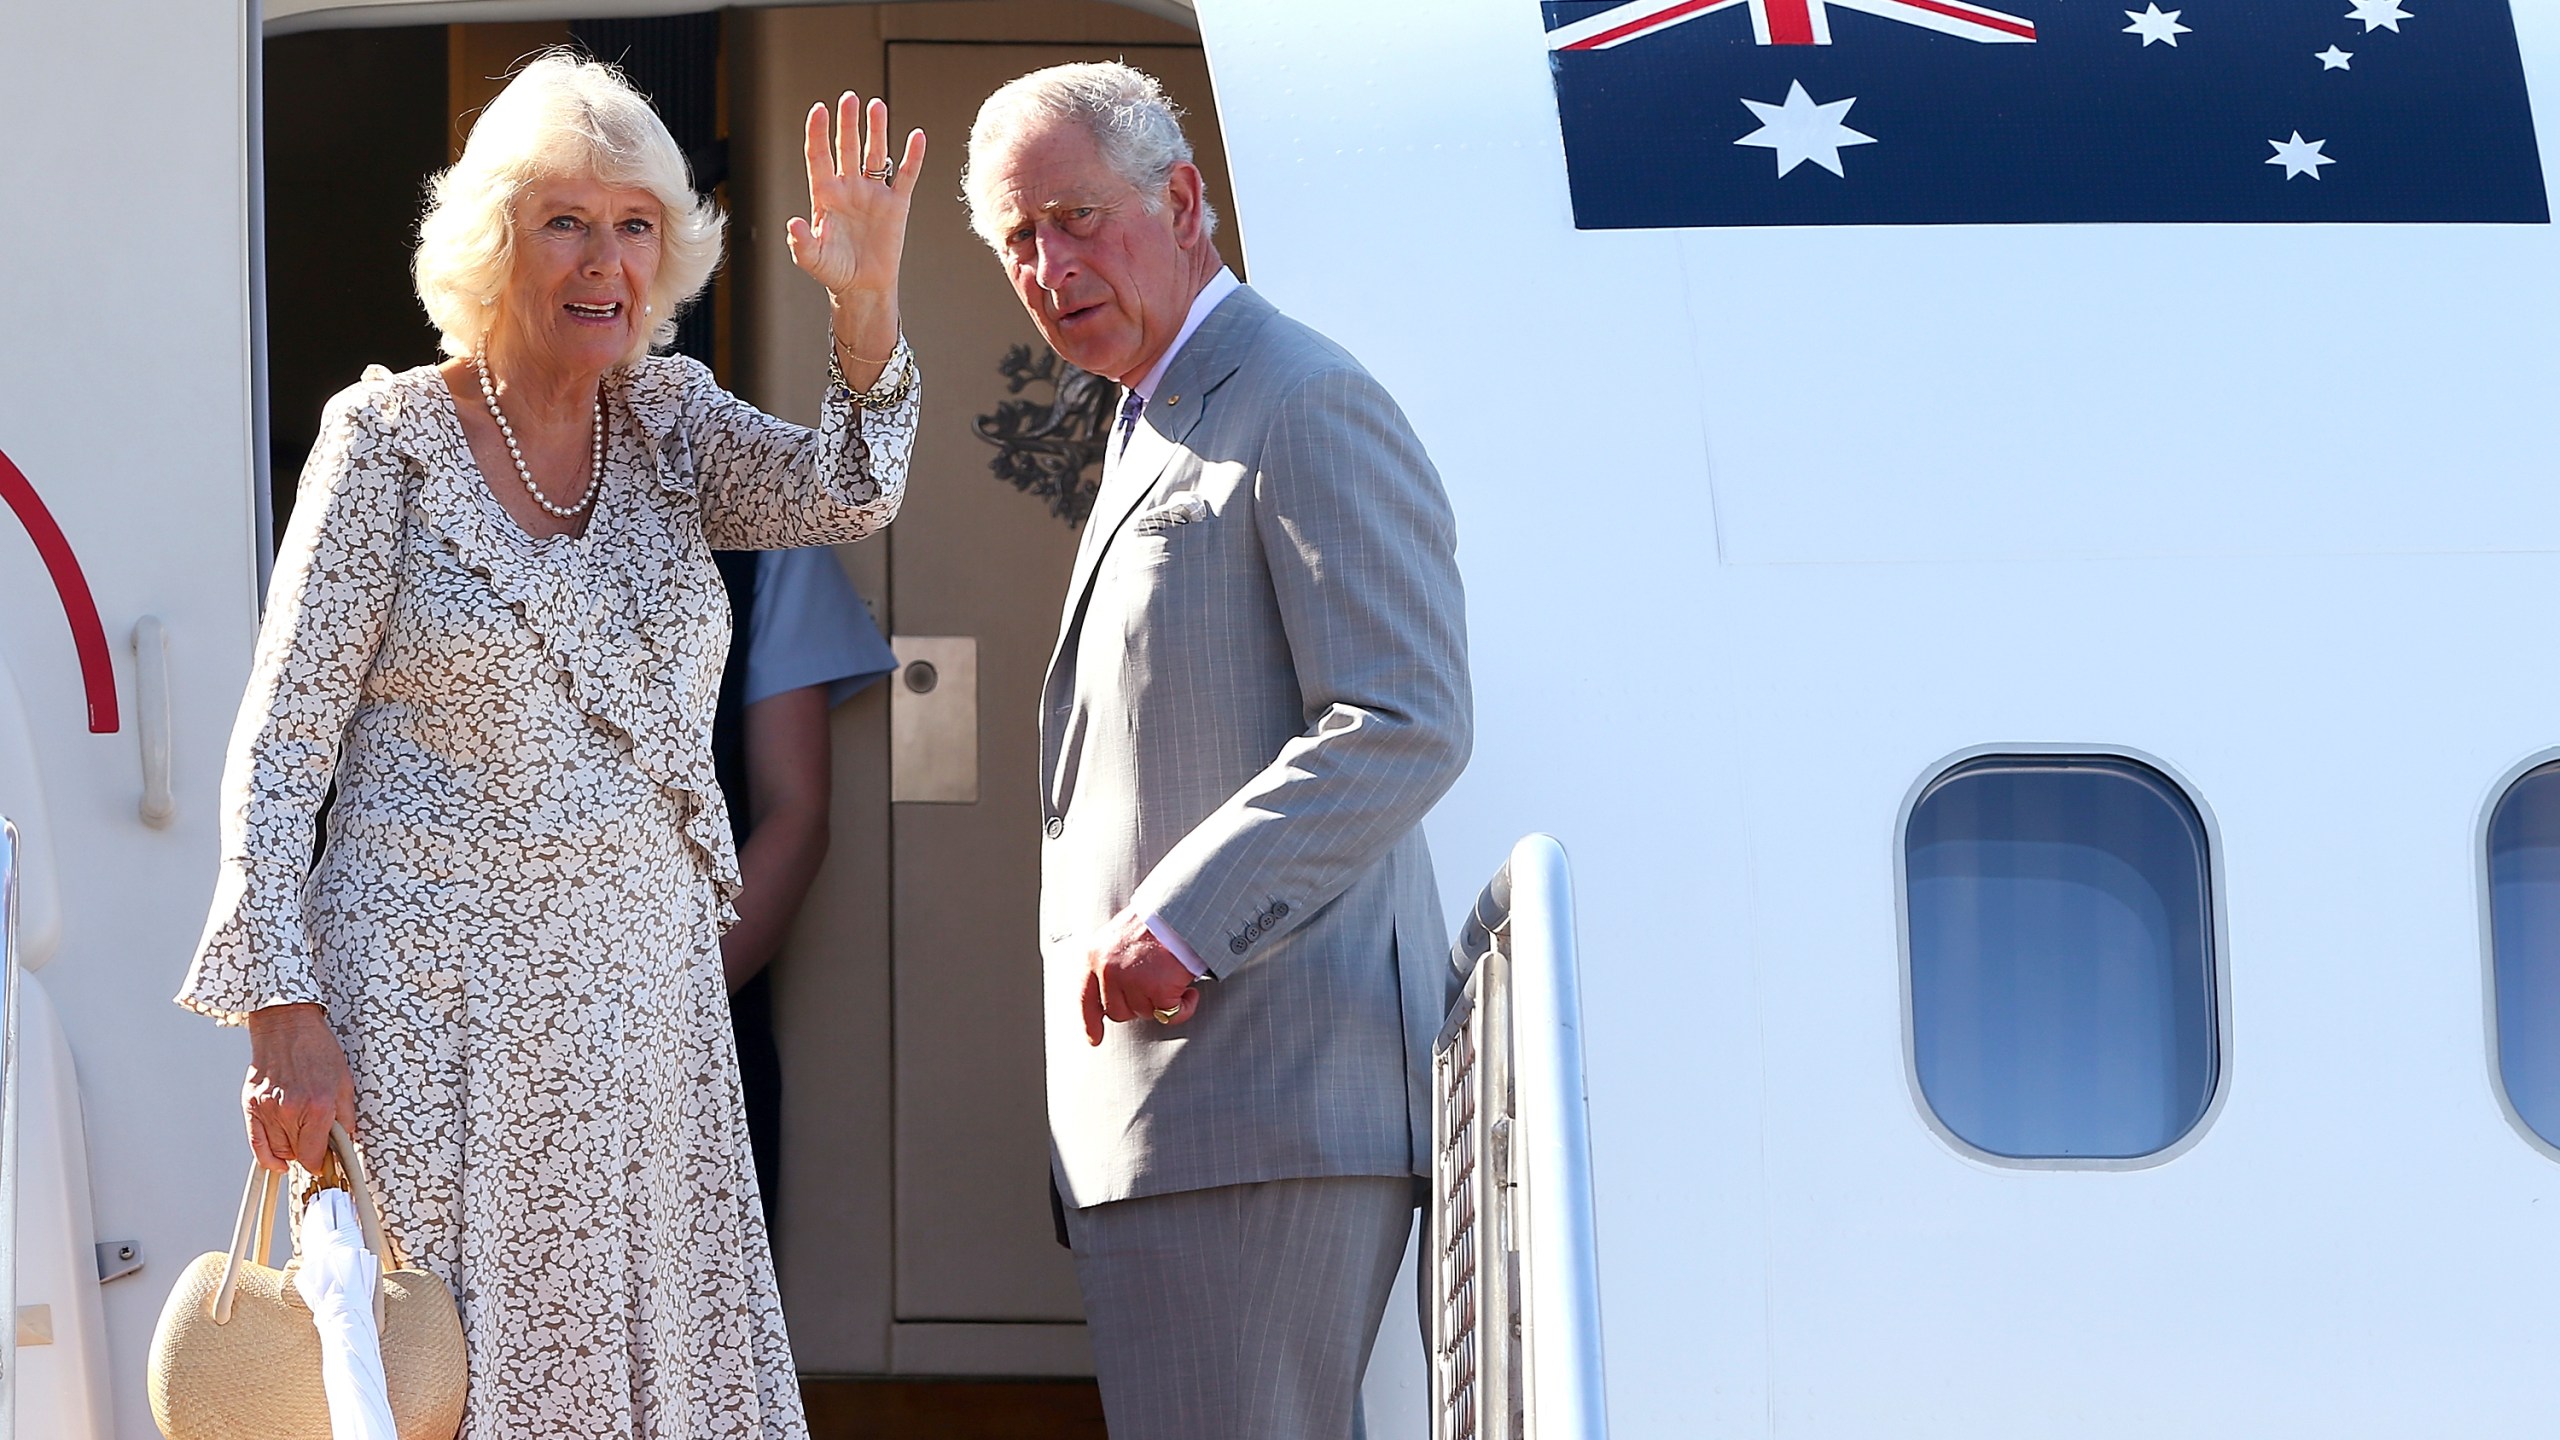
[{"label": "patterned dress sleeve on woman's lowered arm, above the handbag", "polygon": [[312,828],[399,594],[402,461],[387,446],[387,389],[369,374],[330,400],[276,548],[223,764],[212,915],[177,992],[223,1025],[323,999],[302,910]]}]

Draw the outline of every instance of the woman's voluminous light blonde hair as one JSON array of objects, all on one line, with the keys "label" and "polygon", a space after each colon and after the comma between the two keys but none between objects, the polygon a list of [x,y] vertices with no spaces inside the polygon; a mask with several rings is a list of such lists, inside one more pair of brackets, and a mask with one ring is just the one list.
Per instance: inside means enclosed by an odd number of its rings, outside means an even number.
[{"label": "woman's voluminous light blonde hair", "polygon": [[545,177],[591,177],[658,200],[663,249],[648,295],[658,323],[622,364],[673,343],[676,315],[719,269],[727,218],[707,195],[694,195],[684,151],[620,69],[548,49],[481,110],[463,159],[435,177],[417,223],[410,274],[445,354],[476,354],[489,338],[515,266],[517,200]]}]

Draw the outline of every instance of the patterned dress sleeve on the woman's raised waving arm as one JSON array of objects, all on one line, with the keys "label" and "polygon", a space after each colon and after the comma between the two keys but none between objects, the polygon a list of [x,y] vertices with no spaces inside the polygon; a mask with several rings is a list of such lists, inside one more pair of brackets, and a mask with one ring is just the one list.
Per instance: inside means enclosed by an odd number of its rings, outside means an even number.
[{"label": "patterned dress sleeve on the woman's raised waving arm", "polygon": [[873,410],[829,382],[817,430],[809,430],[765,415],[722,389],[709,369],[691,366],[686,433],[712,548],[840,546],[888,525],[906,497],[924,400],[916,351],[904,336],[881,372],[881,387],[901,384],[893,405]]}]

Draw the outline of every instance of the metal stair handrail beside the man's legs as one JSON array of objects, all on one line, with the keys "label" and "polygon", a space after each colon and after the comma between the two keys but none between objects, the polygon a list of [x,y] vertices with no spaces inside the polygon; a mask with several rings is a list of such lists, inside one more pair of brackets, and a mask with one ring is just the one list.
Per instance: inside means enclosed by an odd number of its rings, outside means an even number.
[{"label": "metal stair handrail beside the man's legs", "polygon": [[1605,1440],[1582,981],[1564,846],[1477,894],[1431,1048],[1431,1440]]}]

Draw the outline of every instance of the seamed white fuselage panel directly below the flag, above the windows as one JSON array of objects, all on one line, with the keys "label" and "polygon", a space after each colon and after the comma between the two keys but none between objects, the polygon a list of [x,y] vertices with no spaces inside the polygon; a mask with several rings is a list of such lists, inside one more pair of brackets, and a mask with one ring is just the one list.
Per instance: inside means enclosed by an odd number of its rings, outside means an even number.
[{"label": "seamed white fuselage panel directly below the flag, above the windows", "polygon": [[2560,548],[2550,225],[1679,246],[1728,561]]}]

